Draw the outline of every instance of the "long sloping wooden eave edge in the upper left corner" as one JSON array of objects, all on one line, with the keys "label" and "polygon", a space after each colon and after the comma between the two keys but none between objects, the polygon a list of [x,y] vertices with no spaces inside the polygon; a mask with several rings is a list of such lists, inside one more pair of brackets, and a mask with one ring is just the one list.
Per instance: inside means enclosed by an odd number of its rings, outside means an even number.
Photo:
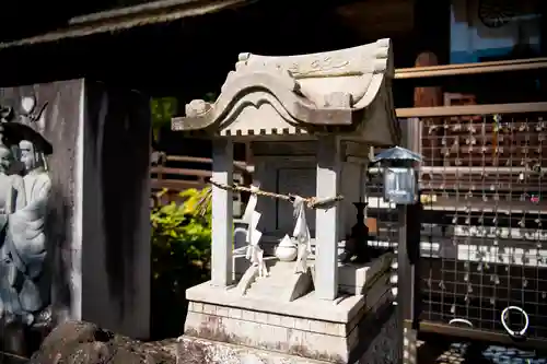
[{"label": "long sloping wooden eave edge in the upper left corner", "polygon": [[23,39],[0,43],[0,50],[34,44],[58,42],[94,34],[129,30],[149,24],[168,23],[189,16],[235,8],[255,0],[161,0],[151,3],[104,11],[68,21],[66,28]]}]

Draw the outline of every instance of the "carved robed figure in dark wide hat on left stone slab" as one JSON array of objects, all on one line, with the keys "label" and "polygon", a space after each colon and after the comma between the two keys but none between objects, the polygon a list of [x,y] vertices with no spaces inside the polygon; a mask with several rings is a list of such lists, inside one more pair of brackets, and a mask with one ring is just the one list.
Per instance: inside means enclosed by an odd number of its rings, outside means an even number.
[{"label": "carved robed figure in dark wide hat on left stone slab", "polygon": [[[0,214],[0,269],[5,273],[0,297],[4,316],[10,319],[20,319],[27,326],[47,324],[50,313],[45,309],[49,303],[49,286],[44,274],[45,219],[51,180],[45,155],[51,153],[53,148],[32,125],[3,122],[2,129],[4,134],[11,134],[11,141],[19,139],[24,171],[23,177],[8,176],[11,184],[5,181],[0,186],[8,195],[7,200],[10,199]],[[5,148],[3,153],[8,155]]]}]

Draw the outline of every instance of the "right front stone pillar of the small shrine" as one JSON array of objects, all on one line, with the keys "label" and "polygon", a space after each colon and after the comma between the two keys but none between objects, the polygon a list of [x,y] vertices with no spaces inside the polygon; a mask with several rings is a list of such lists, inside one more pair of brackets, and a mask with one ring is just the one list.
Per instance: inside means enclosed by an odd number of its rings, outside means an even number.
[{"label": "right front stone pillar of the small shrine", "polygon": [[[336,137],[321,137],[317,143],[317,198],[338,195],[340,148]],[[315,220],[315,294],[322,300],[338,295],[338,206],[317,209]]]}]

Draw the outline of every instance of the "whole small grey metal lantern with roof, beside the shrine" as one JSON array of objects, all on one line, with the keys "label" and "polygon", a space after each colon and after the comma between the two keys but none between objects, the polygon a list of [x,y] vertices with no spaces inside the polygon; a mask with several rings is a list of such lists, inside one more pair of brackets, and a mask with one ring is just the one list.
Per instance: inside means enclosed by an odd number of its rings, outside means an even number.
[{"label": "whole small grey metal lantern with roof, beside the shrine", "polygon": [[412,204],[418,201],[418,178],[415,164],[421,155],[395,146],[379,153],[372,163],[377,163],[384,174],[384,200],[397,204]]}]

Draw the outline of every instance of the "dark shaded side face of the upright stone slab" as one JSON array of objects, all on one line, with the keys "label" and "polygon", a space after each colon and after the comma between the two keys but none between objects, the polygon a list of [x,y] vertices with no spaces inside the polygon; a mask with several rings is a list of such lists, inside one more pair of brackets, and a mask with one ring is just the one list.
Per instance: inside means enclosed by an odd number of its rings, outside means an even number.
[{"label": "dark shaded side face of the upright stone slab", "polygon": [[[80,300],[81,316],[71,318],[147,339],[151,281],[150,99],[105,83],[82,80],[81,84],[82,98],[72,106],[79,105],[83,117],[79,121],[73,187],[78,221],[70,245],[79,250],[72,251],[72,261],[61,260],[69,268],[65,280],[74,283],[73,293],[80,292],[80,297],[71,301],[75,314],[75,302]],[[51,113],[54,121],[55,108]],[[57,118],[57,122],[70,120],[68,115]],[[65,134],[58,138],[63,140]],[[66,152],[55,153],[71,153],[69,145],[66,148]],[[66,167],[57,165],[51,171],[61,168]],[[74,280],[77,277],[80,281]]]}]

